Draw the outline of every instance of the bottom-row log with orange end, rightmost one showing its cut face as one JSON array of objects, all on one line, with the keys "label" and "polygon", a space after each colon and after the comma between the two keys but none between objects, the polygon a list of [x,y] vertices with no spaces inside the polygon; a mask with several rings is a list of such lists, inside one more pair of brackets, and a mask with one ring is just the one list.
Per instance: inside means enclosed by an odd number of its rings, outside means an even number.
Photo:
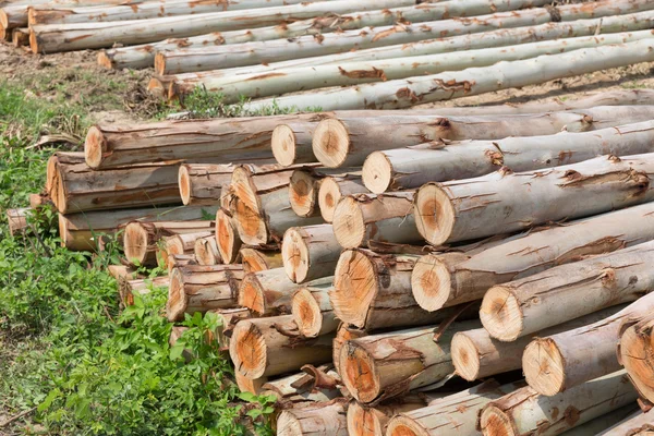
[{"label": "bottom-row log with orange end, rightmost one showing its cut face", "polygon": [[623,371],[608,374],[555,397],[524,387],[487,404],[480,426],[484,436],[558,435],[635,399]]}]

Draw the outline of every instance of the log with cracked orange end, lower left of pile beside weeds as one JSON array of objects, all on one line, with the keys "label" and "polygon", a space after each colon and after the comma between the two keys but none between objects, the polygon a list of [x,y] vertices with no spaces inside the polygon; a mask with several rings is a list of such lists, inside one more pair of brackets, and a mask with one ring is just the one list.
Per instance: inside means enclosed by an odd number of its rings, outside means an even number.
[{"label": "log with cracked orange end, lower left of pile beside weeds", "polygon": [[239,322],[229,344],[235,371],[258,378],[328,362],[332,336],[301,338],[295,334],[292,318],[282,315]]}]

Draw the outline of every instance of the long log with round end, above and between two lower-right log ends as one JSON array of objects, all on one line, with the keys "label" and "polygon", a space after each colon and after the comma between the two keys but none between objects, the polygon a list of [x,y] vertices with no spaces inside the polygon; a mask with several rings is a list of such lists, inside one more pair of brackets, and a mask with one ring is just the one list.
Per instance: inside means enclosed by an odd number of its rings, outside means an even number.
[{"label": "long log with round end, above and between two lower-right log ends", "polygon": [[546,269],[496,284],[484,295],[480,318],[495,339],[510,342],[650,292],[654,241]]}]

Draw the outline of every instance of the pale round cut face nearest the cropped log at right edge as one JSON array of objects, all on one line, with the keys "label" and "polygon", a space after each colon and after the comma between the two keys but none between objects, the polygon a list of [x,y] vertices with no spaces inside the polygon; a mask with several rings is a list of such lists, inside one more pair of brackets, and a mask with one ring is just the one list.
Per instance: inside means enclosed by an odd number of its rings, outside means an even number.
[{"label": "pale round cut face nearest the cropped log at right edge", "polygon": [[565,389],[566,362],[555,341],[535,338],[522,354],[522,372],[529,386],[544,396],[555,396]]}]

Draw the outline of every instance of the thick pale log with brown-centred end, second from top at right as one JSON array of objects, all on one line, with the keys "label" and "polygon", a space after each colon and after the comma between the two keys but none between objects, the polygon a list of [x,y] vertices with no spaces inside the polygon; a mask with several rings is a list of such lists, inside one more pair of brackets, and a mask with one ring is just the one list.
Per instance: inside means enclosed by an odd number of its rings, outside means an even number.
[{"label": "thick pale log with brown-centred end, second from top at right", "polygon": [[654,197],[652,170],[650,155],[603,156],[547,170],[428,183],[415,194],[416,227],[429,243],[443,245],[646,203]]}]

